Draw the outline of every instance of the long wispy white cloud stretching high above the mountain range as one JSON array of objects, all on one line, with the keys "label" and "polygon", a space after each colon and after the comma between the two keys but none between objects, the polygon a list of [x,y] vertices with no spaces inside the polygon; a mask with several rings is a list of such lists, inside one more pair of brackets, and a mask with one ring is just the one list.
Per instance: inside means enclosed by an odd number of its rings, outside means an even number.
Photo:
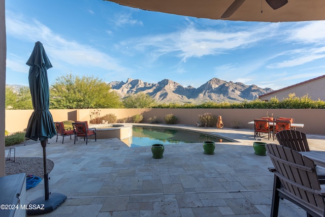
[{"label": "long wispy white cloud stretching high above the mountain range", "polygon": [[121,44],[133,47],[137,51],[150,52],[154,61],[161,55],[175,55],[185,62],[191,57],[217,55],[234,49],[253,46],[261,40],[266,40],[275,34],[277,25],[258,26],[250,31],[232,30],[225,32],[217,30],[201,30],[189,26],[178,32],[149,35],[143,38],[130,39]]}]

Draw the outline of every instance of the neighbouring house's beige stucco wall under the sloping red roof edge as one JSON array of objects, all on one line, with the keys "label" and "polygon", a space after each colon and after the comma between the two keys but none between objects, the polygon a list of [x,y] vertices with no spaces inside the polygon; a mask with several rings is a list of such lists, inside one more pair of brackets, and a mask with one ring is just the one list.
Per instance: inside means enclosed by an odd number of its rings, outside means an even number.
[{"label": "neighbouring house's beige stucco wall under the sloping red roof edge", "polygon": [[274,94],[267,95],[265,97],[260,97],[261,100],[270,100],[273,97],[276,97],[279,100],[283,98],[287,98],[289,94],[295,93],[296,97],[302,97],[308,94],[312,100],[325,101],[325,78],[320,78],[315,81],[310,81],[308,83],[303,83],[297,86],[293,86],[291,88],[284,89],[279,92],[275,92]]}]

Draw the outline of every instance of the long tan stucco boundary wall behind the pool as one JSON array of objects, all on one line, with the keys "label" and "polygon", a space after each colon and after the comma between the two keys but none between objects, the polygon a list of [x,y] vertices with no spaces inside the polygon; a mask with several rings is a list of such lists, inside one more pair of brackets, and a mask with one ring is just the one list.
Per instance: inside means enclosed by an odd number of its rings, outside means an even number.
[{"label": "long tan stucco boundary wall behind the pool", "polygon": [[[221,115],[224,128],[232,128],[234,122],[241,123],[241,128],[253,130],[249,121],[264,116],[293,117],[295,123],[304,123],[304,128],[297,130],[306,134],[325,135],[325,109],[99,109],[100,116],[113,113],[117,119],[142,114],[144,123],[148,118],[156,116],[164,123],[166,114],[174,114],[177,123],[196,126],[199,114],[212,113]],[[6,130],[9,133],[23,131],[27,127],[28,119],[33,110],[6,110]],[[90,120],[90,112],[94,109],[51,109],[54,121]]]}]

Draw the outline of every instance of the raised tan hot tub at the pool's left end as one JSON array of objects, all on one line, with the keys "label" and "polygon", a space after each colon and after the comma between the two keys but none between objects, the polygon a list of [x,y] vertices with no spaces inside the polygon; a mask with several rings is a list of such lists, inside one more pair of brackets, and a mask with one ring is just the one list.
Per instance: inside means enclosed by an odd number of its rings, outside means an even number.
[{"label": "raised tan hot tub at the pool's left end", "polygon": [[[118,124],[100,124],[100,125],[89,125],[89,128],[96,128],[96,138],[97,139],[110,139],[118,138],[124,142],[124,140],[132,140],[132,125],[123,123]],[[89,137],[89,139],[94,139],[94,137]]]}]

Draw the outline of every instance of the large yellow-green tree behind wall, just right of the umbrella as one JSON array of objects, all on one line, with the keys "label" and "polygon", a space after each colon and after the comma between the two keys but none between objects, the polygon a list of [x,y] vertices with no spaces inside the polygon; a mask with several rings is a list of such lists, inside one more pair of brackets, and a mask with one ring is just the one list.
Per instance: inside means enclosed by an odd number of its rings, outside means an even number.
[{"label": "large yellow-green tree behind wall, just right of the umbrella", "polygon": [[111,86],[93,76],[69,74],[56,78],[50,88],[51,109],[121,108],[123,104]]}]

